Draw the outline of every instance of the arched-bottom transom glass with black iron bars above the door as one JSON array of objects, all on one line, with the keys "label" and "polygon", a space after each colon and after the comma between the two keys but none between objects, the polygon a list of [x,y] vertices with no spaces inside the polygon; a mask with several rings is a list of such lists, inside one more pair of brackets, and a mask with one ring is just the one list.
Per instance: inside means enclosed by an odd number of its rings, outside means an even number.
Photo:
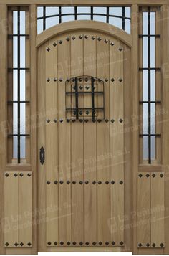
[{"label": "arched-bottom transom glass with black iron bars above the door", "polygon": [[37,32],[62,22],[82,19],[109,23],[130,34],[130,7],[125,6],[38,6]]}]

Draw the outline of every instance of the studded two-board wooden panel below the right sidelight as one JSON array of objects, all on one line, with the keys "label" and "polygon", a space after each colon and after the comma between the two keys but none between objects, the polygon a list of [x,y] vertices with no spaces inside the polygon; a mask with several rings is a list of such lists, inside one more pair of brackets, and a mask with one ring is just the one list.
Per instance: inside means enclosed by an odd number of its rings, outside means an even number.
[{"label": "studded two-board wooden panel below the right sidelight", "polygon": [[165,247],[164,173],[139,173],[137,182],[137,246]]}]

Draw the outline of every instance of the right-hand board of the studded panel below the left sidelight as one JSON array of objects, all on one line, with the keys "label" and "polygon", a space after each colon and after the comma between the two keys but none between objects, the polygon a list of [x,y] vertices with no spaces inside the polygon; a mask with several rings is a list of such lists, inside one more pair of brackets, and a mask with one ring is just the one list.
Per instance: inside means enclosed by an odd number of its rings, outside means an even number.
[{"label": "right-hand board of the studded panel below the left sidelight", "polygon": [[32,247],[32,173],[19,174],[19,245]]}]

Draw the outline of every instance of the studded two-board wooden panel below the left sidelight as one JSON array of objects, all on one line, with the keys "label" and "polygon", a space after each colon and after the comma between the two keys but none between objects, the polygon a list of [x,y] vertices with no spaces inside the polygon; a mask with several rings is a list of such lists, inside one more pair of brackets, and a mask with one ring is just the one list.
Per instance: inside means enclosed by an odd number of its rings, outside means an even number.
[{"label": "studded two-board wooden panel below the left sidelight", "polygon": [[32,247],[32,172],[6,172],[4,246]]}]

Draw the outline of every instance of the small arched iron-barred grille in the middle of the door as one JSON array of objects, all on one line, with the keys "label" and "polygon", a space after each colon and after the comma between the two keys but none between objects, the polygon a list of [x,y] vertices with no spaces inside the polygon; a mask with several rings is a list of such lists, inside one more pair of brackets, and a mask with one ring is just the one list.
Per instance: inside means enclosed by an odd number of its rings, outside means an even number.
[{"label": "small arched iron-barred grille in the middle of the door", "polygon": [[66,81],[67,118],[103,120],[105,118],[104,82],[97,77],[79,76]]}]

